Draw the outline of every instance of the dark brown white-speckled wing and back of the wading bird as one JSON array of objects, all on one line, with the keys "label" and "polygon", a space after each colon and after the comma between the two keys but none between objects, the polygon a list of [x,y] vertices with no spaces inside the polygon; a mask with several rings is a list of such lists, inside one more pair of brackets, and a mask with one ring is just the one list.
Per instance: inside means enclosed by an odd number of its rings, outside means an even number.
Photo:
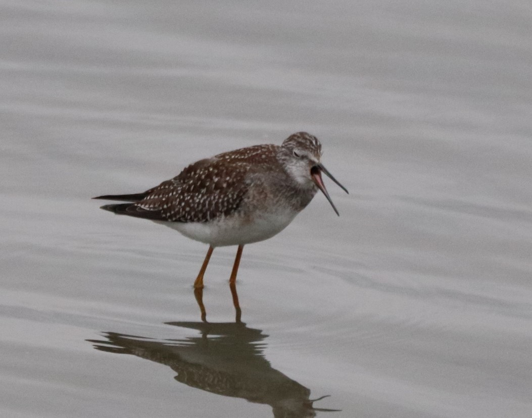
[{"label": "dark brown white-speckled wing and back of the wading bird", "polygon": [[140,202],[117,206],[125,215],[171,222],[209,222],[230,215],[247,193],[250,170],[268,170],[275,149],[257,145],[197,161],[149,189]]}]

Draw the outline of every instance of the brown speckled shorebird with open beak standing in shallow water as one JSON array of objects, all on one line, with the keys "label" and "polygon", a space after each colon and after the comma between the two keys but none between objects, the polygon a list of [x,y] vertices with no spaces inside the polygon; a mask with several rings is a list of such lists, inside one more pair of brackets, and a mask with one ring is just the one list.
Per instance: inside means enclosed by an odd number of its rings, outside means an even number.
[{"label": "brown speckled shorebird with open beak standing in shallow water", "polygon": [[214,248],[238,245],[229,279],[234,287],[244,245],[271,238],[285,229],[318,189],[339,215],[321,173],[349,192],[323,166],[321,154],[318,138],[297,132],[280,146],[255,145],[197,161],[143,193],[94,199],[128,202],[101,208],[149,219],[209,244],[194,281],[196,289],[203,289],[203,275]]}]

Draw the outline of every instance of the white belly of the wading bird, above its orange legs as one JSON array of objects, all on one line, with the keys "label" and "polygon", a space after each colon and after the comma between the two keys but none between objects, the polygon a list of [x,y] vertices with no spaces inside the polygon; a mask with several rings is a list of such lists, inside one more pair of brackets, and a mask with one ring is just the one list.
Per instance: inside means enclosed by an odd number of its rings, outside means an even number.
[{"label": "white belly of the wading bird, above its orange legs", "polygon": [[212,222],[155,221],[182,235],[213,247],[244,245],[271,238],[285,229],[297,212],[263,213],[250,221],[242,216],[221,218]]}]

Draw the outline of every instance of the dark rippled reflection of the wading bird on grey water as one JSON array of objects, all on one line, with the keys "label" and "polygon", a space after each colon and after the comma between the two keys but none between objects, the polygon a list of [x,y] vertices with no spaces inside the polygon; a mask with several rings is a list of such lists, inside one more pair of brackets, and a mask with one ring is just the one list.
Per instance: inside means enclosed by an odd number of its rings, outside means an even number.
[{"label": "dark rippled reflection of the wading bird on grey water", "polygon": [[87,341],[97,350],[132,354],[165,364],[177,373],[174,379],[187,386],[270,405],[275,418],[308,418],[316,416],[317,411],[338,411],[315,408],[313,402],[325,396],[310,399],[310,389],[272,368],[263,354],[267,345],[264,340],[268,336],[241,322],[239,308],[235,322],[206,322],[202,292],[196,290],[195,296],[201,307],[202,321],[167,324],[197,330],[196,337],[154,340],[103,332],[105,340]]}]

